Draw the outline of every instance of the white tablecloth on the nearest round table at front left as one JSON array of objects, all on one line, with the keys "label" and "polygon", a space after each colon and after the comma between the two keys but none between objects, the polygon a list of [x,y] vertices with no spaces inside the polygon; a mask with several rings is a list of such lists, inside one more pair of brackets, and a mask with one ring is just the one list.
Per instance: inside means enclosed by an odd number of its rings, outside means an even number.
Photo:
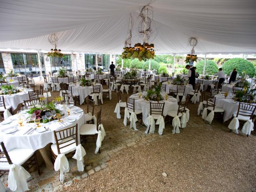
[{"label": "white tablecloth on the nearest round table at front left", "polygon": [[[77,110],[77,109],[78,109],[78,107],[71,108],[71,116],[73,116],[73,118],[76,118],[76,121],[74,121],[73,123],[69,123],[69,125],[67,125],[67,126],[62,126],[60,123],[57,123],[56,125],[59,125],[61,127],[57,128],[56,130],[61,130],[61,129],[68,128],[71,126],[75,126],[77,123],[78,124],[78,139],[79,139],[79,143],[80,143],[79,128],[80,128],[80,126],[82,126],[84,124],[84,112],[81,113],[80,115],[72,114],[72,111]],[[7,124],[5,126],[1,125],[0,129],[17,124],[15,119],[17,119],[17,115],[7,118],[7,120],[5,120],[5,121],[12,120],[13,123],[11,123],[11,125],[10,124]],[[63,117],[62,119],[65,120],[66,118]],[[52,123],[52,122],[50,122],[50,123]],[[34,123],[27,123],[27,124],[23,123],[23,125],[24,126],[22,126],[22,127],[18,127],[21,132],[22,132],[22,129],[24,130],[26,128],[29,128],[29,126],[32,126],[35,124]],[[40,125],[41,125],[41,127],[46,126],[48,128],[49,123],[40,123]],[[7,150],[12,150],[14,148],[30,148],[30,149],[36,151],[38,149],[44,148],[48,143],[56,143],[53,130],[45,131],[43,133],[37,133],[37,131],[34,130],[31,135],[28,135],[28,134],[23,135],[22,133],[19,133],[20,131],[17,131],[14,135],[5,134],[2,131],[0,131],[0,141],[3,141],[5,143],[5,147],[7,148]]]}]

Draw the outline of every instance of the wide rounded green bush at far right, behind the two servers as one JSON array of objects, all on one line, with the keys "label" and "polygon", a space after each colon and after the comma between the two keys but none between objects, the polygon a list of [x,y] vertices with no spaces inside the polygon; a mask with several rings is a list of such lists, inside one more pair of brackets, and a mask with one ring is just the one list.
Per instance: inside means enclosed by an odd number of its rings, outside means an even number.
[{"label": "wide rounded green bush at far right, behind the two servers", "polygon": [[249,75],[250,77],[254,76],[255,69],[253,64],[245,59],[229,59],[222,65],[223,72],[227,75],[229,75],[234,68],[236,68],[236,71],[239,73],[239,75],[241,75],[242,72],[245,71],[246,75]]}]

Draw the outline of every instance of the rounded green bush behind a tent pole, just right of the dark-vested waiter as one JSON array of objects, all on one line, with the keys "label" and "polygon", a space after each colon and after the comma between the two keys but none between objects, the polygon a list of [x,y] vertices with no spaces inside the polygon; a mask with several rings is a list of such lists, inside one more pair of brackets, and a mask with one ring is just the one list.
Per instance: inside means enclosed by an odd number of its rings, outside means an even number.
[{"label": "rounded green bush behind a tent pole, just right of the dark-vested waiter", "polygon": [[[196,72],[198,74],[203,74],[204,70],[204,60],[199,61],[196,64],[197,70]],[[219,71],[217,64],[213,60],[206,60],[206,65],[205,65],[205,73],[208,75],[214,75]]]}]

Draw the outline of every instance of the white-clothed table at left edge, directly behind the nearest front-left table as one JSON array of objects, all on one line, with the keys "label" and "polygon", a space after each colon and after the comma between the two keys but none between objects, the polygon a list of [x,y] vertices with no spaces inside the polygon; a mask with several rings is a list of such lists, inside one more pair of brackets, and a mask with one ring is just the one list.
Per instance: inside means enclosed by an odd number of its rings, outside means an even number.
[{"label": "white-clothed table at left edge, directly behind the nearest front-left table", "polygon": [[5,98],[5,106],[12,106],[14,111],[20,103],[24,100],[29,100],[28,92],[33,91],[32,89],[24,89],[22,92],[17,94],[3,95]]}]

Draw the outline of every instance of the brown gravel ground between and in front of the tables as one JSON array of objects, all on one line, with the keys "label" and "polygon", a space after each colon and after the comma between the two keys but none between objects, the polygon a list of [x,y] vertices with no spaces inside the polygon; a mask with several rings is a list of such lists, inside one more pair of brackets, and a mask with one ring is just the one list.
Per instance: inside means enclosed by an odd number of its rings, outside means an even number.
[{"label": "brown gravel ground between and in front of the tables", "polygon": [[[111,101],[99,105],[106,130],[123,127],[123,116],[118,120],[113,113],[116,102],[113,92]],[[189,108],[190,121],[180,134],[127,147],[111,156],[108,167],[60,191],[256,191],[256,136],[229,133],[227,123],[218,121],[209,126],[197,116],[197,105]]]}]

